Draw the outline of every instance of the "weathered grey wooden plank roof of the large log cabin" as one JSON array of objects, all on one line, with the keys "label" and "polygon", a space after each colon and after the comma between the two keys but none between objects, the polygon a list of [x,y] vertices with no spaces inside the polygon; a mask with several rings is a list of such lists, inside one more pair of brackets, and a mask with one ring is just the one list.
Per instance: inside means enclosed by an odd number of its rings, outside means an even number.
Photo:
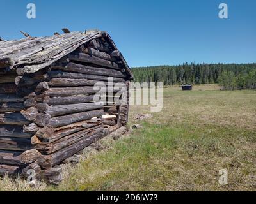
[{"label": "weathered grey wooden plank roof of the large log cabin", "polygon": [[[78,47],[96,38],[107,38],[109,46],[118,50],[108,33],[104,31],[71,32],[40,38],[0,41],[0,69],[22,68],[22,73],[35,73],[70,54]],[[120,60],[130,79],[131,69],[120,53]]]}]

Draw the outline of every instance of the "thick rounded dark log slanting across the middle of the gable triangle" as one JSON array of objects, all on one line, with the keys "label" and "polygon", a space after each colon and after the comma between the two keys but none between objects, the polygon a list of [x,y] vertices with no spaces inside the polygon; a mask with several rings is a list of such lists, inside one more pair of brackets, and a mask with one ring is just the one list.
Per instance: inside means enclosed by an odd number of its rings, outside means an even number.
[{"label": "thick rounded dark log slanting across the middle of the gable triangle", "polygon": [[72,52],[71,54],[68,54],[68,59],[70,59],[71,61],[79,61],[84,63],[96,64],[99,66],[106,66],[112,69],[120,69],[118,67],[118,64],[116,64],[115,62],[101,59],[93,55],[88,55],[83,52]]}]

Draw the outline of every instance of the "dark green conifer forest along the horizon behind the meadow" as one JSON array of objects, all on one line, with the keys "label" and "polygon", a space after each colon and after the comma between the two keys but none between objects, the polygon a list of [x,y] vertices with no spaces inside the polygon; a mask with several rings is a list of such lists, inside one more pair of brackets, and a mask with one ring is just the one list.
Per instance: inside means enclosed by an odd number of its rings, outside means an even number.
[{"label": "dark green conifer forest along the horizon behind the meadow", "polygon": [[223,89],[256,89],[254,64],[188,64],[132,68],[136,82],[163,85],[216,84]]}]

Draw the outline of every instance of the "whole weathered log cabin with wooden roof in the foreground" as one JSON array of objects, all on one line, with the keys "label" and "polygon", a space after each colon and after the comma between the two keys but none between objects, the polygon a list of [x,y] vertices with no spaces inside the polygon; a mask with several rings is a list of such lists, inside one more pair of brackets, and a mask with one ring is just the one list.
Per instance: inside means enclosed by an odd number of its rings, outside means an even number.
[{"label": "whole weathered log cabin with wooden roof in the foreground", "polygon": [[103,31],[0,41],[0,175],[60,182],[65,159],[127,124],[131,80]]}]

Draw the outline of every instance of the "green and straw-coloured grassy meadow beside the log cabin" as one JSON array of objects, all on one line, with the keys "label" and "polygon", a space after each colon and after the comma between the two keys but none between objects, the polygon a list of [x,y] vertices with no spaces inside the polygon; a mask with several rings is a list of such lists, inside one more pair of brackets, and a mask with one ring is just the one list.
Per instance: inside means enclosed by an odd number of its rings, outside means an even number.
[{"label": "green and straw-coloured grassy meadow beside the log cabin", "polygon": [[[0,190],[255,191],[256,91],[193,88],[165,88],[161,112],[131,106],[129,126],[142,127],[119,140],[104,138],[100,151],[84,150],[79,164],[67,166],[60,186],[32,189],[4,177]],[[136,122],[137,113],[153,117]],[[218,182],[223,168],[227,185]]]}]

